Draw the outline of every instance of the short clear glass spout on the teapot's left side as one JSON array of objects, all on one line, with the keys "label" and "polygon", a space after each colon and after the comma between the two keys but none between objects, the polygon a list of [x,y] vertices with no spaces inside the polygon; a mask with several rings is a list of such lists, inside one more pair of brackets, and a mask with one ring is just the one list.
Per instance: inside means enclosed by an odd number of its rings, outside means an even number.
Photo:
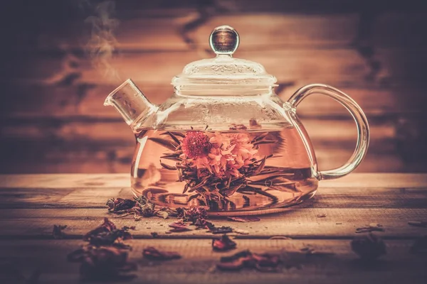
[{"label": "short clear glass spout on the teapot's left side", "polygon": [[131,127],[135,121],[140,121],[140,118],[144,119],[150,114],[154,114],[158,109],[156,105],[148,101],[130,79],[112,91],[105,99],[104,105],[115,107],[127,125]]}]

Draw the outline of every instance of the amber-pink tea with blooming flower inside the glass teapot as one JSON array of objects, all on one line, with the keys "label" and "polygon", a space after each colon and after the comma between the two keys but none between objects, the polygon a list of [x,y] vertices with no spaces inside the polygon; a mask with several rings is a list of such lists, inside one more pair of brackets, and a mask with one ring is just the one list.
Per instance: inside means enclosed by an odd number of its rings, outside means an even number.
[{"label": "amber-pink tea with blooming flower inside the glass teapot", "polygon": [[280,211],[317,190],[315,156],[298,131],[142,130],[132,191],[161,207],[206,206],[218,215]]}]

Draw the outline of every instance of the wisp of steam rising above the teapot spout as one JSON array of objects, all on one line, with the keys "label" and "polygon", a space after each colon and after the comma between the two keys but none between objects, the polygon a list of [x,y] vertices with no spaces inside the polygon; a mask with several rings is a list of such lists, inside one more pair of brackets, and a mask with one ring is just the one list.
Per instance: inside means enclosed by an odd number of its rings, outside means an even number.
[{"label": "wisp of steam rising above the teapot spout", "polygon": [[[88,4],[88,2],[87,2]],[[93,9],[93,16],[85,19],[92,26],[91,36],[85,49],[92,58],[92,64],[110,80],[120,80],[111,60],[117,54],[117,40],[114,31],[120,22],[114,18],[115,1],[102,1]]]}]

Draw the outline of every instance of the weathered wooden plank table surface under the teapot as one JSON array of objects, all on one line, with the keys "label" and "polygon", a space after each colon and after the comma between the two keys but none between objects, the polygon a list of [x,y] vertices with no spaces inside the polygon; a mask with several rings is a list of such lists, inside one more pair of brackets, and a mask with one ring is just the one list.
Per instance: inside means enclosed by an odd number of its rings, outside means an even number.
[{"label": "weathered wooden plank table surface under the teapot", "polygon": [[[320,182],[312,199],[288,212],[260,216],[260,222],[212,219],[217,226],[249,231],[236,235],[237,249],[218,253],[206,230],[166,234],[174,217],[115,218],[107,214],[111,197],[132,197],[128,175],[0,175],[0,275],[20,275],[25,283],[40,271],[38,283],[78,283],[78,263],[66,256],[83,245],[82,236],[104,217],[118,227],[136,226],[131,261],[139,263],[131,283],[427,283],[427,258],[409,253],[413,241],[427,228],[409,221],[427,221],[427,174],[353,174]],[[326,217],[317,217],[326,214]],[[364,266],[350,248],[355,229],[381,224],[387,254]],[[53,239],[53,224],[67,225],[65,239]],[[152,237],[156,232],[159,236]],[[292,239],[278,239],[287,236]],[[142,261],[142,249],[177,251],[179,260],[163,263]],[[251,249],[253,252],[288,251],[301,256],[301,249],[332,252],[332,256],[300,257],[300,268],[280,268],[277,273],[214,269],[221,256]],[[6,283],[1,281],[0,282]],[[9,280],[10,281],[10,280]],[[21,281],[21,282],[19,282]]]}]

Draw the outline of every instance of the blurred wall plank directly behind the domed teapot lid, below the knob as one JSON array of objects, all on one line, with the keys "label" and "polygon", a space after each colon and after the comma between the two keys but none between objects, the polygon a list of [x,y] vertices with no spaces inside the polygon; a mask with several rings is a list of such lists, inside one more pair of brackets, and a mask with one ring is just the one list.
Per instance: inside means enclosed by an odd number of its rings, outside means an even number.
[{"label": "blurred wall plank directly behind the domed teapot lid, below the knob", "polygon": [[[189,62],[211,57],[203,50],[121,53],[96,70],[84,55],[26,53],[12,60],[14,65],[4,82],[117,85],[132,77],[144,89],[145,84],[168,84]],[[297,84],[304,80],[337,87],[379,87],[385,83],[392,87],[408,82],[408,78],[422,82],[420,71],[427,62],[423,50],[417,48],[376,48],[371,58],[379,62],[376,70],[369,67],[370,59],[350,48],[241,50],[236,57],[259,62],[279,82]]]}]

